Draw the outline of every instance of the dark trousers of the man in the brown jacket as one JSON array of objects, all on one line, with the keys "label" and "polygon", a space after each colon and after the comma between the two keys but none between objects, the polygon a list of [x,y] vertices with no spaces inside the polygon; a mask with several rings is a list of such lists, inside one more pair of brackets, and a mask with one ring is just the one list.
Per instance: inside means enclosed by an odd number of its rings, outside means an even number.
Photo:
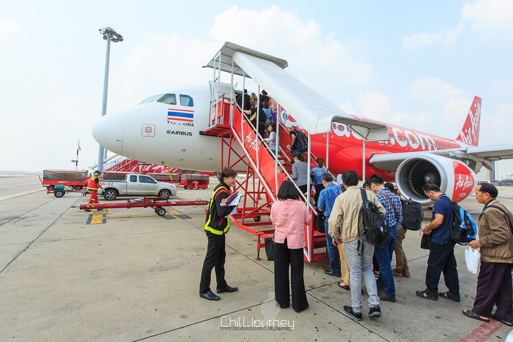
[{"label": "dark trousers of the man in the brown jacket", "polygon": [[489,318],[495,304],[495,316],[513,323],[511,266],[512,264],[481,261],[473,312]]}]

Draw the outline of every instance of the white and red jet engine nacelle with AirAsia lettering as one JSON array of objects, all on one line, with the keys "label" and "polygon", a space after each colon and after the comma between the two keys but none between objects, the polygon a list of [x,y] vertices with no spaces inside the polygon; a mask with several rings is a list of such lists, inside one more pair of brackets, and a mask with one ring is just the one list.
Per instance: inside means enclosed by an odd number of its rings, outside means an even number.
[{"label": "white and red jet engine nacelle with AirAsia lettering", "polygon": [[433,202],[422,191],[426,183],[435,183],[454,202],[460,202],[473,191],[476,174],[459,160],[439,155],[419,155],[399,165],[396,183],[405,198],[427,206]]}]

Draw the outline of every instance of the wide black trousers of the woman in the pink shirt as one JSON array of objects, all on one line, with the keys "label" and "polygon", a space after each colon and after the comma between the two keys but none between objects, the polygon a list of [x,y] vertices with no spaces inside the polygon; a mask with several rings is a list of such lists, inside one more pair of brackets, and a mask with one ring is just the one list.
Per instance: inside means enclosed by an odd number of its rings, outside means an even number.
[{"label": "wide black trousers of the woman in the pink shirt", "polygon": [[292,287],[292,308],[300,311],[306,309],[305,279],[303,278],[303,248],[290,249],[287,238],[283,244],[274,243],[274,292],[276,301],[282,308],[290,306],[289,265]]}]

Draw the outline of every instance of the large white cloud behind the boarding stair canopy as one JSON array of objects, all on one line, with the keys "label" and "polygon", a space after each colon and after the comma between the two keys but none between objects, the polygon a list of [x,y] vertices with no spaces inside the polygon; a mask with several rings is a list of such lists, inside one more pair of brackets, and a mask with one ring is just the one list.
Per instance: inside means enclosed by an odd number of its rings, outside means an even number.
[{"label": "large white cloud behind the boarding stair canopy", "polygon": [[[149,96],[177,85],[206,85],[212,70],[201,67],[225,41],[291,61],[287,70],[321,93],[332,90],[334,80],[340,86],[354,86],[371,77],[371,67],[353,56],[357,45],[345,46],[314,21],[278,6],[260,11],[230,7],[215,17],[210,33],[202,40],[147,35],[126,58],[125,91],[139,98],[142,90]],[[277,34],[280,39],[273,39]]]}]

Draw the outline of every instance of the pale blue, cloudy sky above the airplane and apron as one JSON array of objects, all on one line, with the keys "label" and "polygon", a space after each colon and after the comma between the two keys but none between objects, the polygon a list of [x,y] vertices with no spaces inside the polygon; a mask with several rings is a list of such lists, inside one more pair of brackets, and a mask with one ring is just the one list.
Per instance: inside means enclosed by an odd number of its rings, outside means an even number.
[{"label": "pale blue, cloudy sky above the airplane and apron", "polygon": [[[224,41],[288,60],[288,71],[348,112],[456,137],[474,95],[481,145],[511,143],[513,2],[4,2],[0,170],[93,164],[105,42],[108,111],[166,88],[206,84]],[[513,164],[499,165],[501,176]]]}]

